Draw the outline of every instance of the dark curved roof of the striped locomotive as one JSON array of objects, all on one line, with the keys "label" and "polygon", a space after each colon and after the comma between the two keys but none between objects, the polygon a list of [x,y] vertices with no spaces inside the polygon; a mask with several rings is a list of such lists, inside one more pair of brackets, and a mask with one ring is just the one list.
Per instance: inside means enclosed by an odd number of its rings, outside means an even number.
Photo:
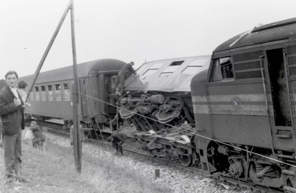
[{"label": "dark curved roof of the striped locomotive", "polygon": [[293,37],[296,37],[296,17],[238,34],[222,43],[214,52]]}]

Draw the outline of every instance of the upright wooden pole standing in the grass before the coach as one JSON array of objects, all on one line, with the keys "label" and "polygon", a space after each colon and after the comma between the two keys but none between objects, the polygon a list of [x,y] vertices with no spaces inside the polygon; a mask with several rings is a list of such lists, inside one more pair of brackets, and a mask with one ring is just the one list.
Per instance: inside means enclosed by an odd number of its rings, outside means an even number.
[{"label": "upright wooden pole standing in the grass before the coach", "polygon": [[[76,171],[81,173],[81,132],[78,131],[80,126],[79,121],[79,88],[78,88],[78,77],[77,77],[77,62],[76,62],[76,47],[75,47],[75,30],[74,30],[74,3],[73,0],[71,4],[71,32],[72,32],[72,52],[73,52],[73,75],[74,75],[74,85],[73,85],[73,146],[74,146],[74,162]],[[79,137],[80,136],[80,137]]]}]

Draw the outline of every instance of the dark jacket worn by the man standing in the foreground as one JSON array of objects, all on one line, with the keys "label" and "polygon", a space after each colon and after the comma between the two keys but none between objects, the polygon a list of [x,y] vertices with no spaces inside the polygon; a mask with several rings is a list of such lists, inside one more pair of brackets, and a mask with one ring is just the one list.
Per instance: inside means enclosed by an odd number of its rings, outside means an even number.
[{"label": "dark jacket worn by the man standing in the foreground", "polygon": [[[24,104],[22,97],[19,98]],[[19,132],[19,129],[25,129],[24,110],[21,106],[14,104],[14,94],[8,86],[0,91],[0,116],[2,120],[2,134],[13,135]]]}]

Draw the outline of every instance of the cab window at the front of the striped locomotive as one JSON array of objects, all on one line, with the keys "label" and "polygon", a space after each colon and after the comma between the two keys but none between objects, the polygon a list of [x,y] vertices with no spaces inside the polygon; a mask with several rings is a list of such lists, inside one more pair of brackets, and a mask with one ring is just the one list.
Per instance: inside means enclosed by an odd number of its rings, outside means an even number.
[{"label": "cab window at the front of the striped locomotive", "polygon": [[233,80],[233,68],[230,57],[219,58],[214,62],[211,81]]}]

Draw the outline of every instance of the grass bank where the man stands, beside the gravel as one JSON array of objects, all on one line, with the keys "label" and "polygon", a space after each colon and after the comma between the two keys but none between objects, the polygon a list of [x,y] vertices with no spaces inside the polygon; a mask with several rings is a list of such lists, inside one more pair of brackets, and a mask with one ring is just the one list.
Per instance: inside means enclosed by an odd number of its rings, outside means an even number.
[{"label": "grass bank where the man stands, beside the gravel", "polygon": [[[168,188],[117,164],[103,153],[82,157],[82,172],[74,168],[73,149],[50,141],[44,151],[23,141],[23,176],[30,180],[21,186],[0,184],[1,193],[169,193]],[[4,170],[3,149],[0,169]],[[3,176],[3,172],[2,172]]]}]

